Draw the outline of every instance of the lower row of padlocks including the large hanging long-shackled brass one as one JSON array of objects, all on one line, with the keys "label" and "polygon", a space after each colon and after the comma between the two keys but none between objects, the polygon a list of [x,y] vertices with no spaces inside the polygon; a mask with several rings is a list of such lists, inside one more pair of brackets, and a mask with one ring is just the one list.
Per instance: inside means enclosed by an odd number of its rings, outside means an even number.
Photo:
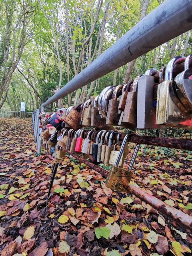
[{"label": "lower row of padlocks including the large hanging long-shackled brass one", "polygon": [[126,134],[122,143],[120,142],[121,134],[122,132],[116,131],[84,130],[82,128],[75,131],[74,129],[64,128],[60,131],[58,138],[56,138],[56,135],[52,136],[48,140],[48,144],[50,142],[56,143],[55,164],[61,163],[64,160],[65,152],[62,149],[65,148],[70,153],[82,153],[84,158],[89,158],[91,162],[103,162],[104,164],[112,165],[106,179],[106,186],[126,192],[132,177],[131,170],[140,144],[136,145],[128,170],[122,168],[124,159],[128,155],[128,136],[130,134],[138,135],[138,133],[130,132]]}]

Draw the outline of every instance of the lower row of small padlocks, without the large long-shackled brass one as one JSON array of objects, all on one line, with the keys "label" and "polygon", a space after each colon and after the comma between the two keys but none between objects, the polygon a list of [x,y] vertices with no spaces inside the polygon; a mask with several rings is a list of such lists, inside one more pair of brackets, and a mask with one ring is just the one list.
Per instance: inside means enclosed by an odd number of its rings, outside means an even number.
[{"label": "lower row of small padlocks, without the large long-shackled brass one", "polygon": [[[132,133],[137,134],[136,132]],[[56,150],[64,147],[71,153],[83,153],[87,155],[85,157],[90,158],[91,162],[114,165],[122,145],[120,142],[121,134],[122,132],[111,130],[84,130],[81,128],[75,131],[74,129],[63,128],[59,136],[56,130],[47,143],[50,146],[55,146]],[[127,155],[128,144],[126,143],[118,166],[123,166],[124,158]]]}]

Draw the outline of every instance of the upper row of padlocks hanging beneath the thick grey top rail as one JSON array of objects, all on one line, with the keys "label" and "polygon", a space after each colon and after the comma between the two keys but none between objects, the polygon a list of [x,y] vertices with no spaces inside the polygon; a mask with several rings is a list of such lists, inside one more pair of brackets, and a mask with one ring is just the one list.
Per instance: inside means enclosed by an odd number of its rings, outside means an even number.
[{"label": "upper row of padlocks hanging beneath the thick grey top rail", "polygon": [[176,56],[160,71],[150,68],[128,84],[107,86],[100,95],[50,115],[42,112],[44,126],[57,130],[94,126],[112,130],[118,125],[145,128],[192,128],[192,54]]}]

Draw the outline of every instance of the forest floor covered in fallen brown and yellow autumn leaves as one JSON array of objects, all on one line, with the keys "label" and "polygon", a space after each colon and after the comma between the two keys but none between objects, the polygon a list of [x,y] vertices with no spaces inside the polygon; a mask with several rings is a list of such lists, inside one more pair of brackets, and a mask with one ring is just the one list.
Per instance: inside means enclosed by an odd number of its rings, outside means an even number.
[{"label": "forest floor covered in fallen brown and yellow autumn leaves", "polygon": [[[134,145],[125,166],[128,166]],[[1,256],[186,256],[189,230],[132,194],[107,188],[96,171],[66,156],[46,196],[52,156],[38,156],[30,120],[0,118]],[[142,146],[132,184],[192,214],[192,156]]]}]

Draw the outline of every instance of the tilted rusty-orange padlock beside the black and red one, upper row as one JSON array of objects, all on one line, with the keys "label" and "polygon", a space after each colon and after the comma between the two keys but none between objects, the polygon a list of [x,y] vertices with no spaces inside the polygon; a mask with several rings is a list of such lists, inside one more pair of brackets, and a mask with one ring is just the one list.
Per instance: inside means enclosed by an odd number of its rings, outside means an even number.
[{"label": "tilted rusty-orange padlock beside the black and red one, upper row", "polygon": [[66,116],[63,119],[66,124],[68,124],[71,128],[73,128],[76,131],[81,128],[79,124],[80,118],[79,118],[79,112],[78,112],[78,109],[80,106],[81,106],[81,103],[76,105],[74,108],[72,108],[70,112],[66,114]]}]

